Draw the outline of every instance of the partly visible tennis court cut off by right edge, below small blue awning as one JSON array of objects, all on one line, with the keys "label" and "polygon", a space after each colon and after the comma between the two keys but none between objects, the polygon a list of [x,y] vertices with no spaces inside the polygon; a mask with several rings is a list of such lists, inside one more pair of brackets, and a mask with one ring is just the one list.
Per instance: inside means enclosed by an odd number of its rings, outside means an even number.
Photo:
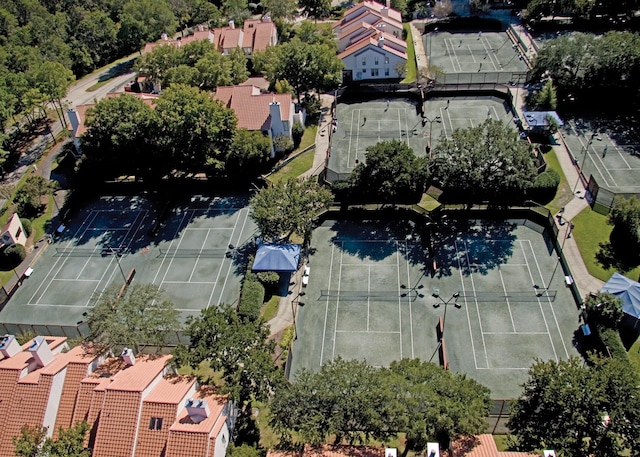
[{"label": "partly visible tennis court cut off by right edge, below small blue awning", "polygon": [[586,179],[614,193],[640,193],[640,137],[624,123],[573,120],[564,141]]}]

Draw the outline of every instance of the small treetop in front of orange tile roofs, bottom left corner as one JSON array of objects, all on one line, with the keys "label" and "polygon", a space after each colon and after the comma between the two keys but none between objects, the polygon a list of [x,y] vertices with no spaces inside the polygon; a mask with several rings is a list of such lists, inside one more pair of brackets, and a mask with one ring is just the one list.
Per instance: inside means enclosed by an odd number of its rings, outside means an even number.
[{"label": "small treetop in front of orange tile roofs, bottom left corner", "polygon": [[80,422],[69,429],[59,429],[58,438],[47,438],[44,427],[20,429],[20,435],[13,437],[14,453],[18,457],[90,457],[84,448],[84,440],[89,426]]}]

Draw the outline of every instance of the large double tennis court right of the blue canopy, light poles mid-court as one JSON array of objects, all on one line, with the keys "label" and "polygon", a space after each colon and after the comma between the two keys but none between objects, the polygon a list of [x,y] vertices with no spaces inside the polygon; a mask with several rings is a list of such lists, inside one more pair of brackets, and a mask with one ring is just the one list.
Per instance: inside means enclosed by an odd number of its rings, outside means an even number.
[{"label": "large double tennis court right of the blue canopy, light poles mid-court", "polygon": [[540,226],[454,222],[434,239],[435,270],[420,232],[411,221],[326,221],[315,230],[292,376],[339,356],[437,363],[439,318],[450,369],[493,398],[515,398],[534,358],[577,355],[576,305]]}]

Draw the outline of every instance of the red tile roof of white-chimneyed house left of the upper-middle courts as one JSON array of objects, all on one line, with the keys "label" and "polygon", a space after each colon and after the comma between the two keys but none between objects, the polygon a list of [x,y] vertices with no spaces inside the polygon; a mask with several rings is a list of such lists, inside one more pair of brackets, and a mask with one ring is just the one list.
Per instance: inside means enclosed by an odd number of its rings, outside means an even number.
[{"label": "red tile roof of white-chimneyed house left of the upper-middle courts", "polygon": [[282,119],[289,119],[291,113],[291,94],[261,94],[255,86],[218,87],[214,95],[216,100],[235,111],[238,128],[248,130],[268,130],[270,122],[269,104],[280,103]]}]

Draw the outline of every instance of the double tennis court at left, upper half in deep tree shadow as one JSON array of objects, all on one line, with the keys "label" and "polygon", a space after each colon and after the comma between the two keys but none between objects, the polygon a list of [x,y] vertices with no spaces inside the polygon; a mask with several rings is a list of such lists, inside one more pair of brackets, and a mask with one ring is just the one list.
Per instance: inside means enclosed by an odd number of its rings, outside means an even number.
[{"label": "double tennis court at left, upper half in deep tree shadow", "polygon": [[243,248],[255,225],[243,196],[154,202],[104,197],[54,236],[34,272],[0,314],[4,323],[76,325],[96,294],[133,283],[157,284],[183,318],[234,303]]}]

